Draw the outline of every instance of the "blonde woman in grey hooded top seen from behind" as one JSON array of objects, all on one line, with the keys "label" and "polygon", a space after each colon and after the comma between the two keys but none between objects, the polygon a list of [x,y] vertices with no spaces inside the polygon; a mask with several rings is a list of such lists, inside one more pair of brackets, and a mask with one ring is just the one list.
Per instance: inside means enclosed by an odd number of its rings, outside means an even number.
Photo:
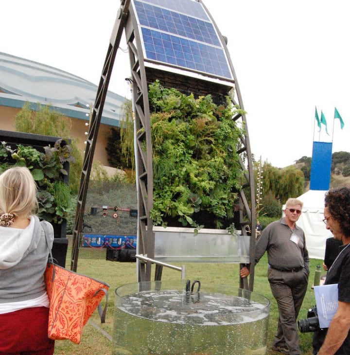
[{"label": "blonde woman in grey hooded top seen from behind", "polygon": [[[53,355],[47,337],[44,282],[49,248],[37,210],[36,185],[25,167],[0,175],[0,354]],[[47,236],[53,245],[53,227]]]}]

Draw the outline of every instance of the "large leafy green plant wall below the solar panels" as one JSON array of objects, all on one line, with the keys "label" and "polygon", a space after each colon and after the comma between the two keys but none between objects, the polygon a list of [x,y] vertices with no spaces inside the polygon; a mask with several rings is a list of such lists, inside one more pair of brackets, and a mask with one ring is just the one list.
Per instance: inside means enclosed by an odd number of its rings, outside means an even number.
[{"label": "large leafy green plant wall below the solar panels", "polygon": [[223,228],[242,188],[237,149],[244,134],[231,100],[215,105],[159,81],[149,87],[154,225]]}]

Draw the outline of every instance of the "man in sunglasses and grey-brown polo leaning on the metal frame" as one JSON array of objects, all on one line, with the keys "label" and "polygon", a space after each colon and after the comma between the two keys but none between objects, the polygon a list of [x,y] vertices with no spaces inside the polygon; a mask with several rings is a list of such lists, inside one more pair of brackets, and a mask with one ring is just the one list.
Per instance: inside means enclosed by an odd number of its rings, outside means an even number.
[{"label": "man in sunglasses and grey-brown polo leaning on the metal frame", "polygon": [[[279,309],[272,350],[281,354],[300,354],[297,316],[308,286],[310,263],[304,231],[296,225],[302,206],[300,200],[289,198],[284,217],[270,223],[255,246],[255,264],[267,251],[268,281]],[[243,267],[241,276],[248,274],[248,268]]]}]

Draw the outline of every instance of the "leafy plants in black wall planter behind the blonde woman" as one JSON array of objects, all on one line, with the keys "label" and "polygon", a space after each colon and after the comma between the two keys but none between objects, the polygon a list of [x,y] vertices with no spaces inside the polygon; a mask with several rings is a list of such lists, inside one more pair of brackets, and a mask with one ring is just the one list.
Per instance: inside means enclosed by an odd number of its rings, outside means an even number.
[{"label": "leafy plants in black wall planter behind the blonde woman", "polygon": [[73,161],[70,146],[58,140],[53,147],[44,147],[45,153],[31,146],[18,144],[13,149],[6,142],[0,145],[0,174],[12,166],[26,166],[38,186],[38,215],[57,224],[67,219],[72,208],[70,188],[63,181],[68,175],[65,162]]}]

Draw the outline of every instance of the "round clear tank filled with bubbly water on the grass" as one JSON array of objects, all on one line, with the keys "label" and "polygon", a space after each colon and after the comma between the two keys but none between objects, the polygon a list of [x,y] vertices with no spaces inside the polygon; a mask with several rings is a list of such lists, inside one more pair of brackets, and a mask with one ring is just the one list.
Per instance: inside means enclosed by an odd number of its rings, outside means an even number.
[{"label": "round clear tank filled with bubbly water on the grass", "polygon": [[198,286],[192,292],[181,281],[118,287],[113,355],[266,354],[270,301],[233,286]]}]

